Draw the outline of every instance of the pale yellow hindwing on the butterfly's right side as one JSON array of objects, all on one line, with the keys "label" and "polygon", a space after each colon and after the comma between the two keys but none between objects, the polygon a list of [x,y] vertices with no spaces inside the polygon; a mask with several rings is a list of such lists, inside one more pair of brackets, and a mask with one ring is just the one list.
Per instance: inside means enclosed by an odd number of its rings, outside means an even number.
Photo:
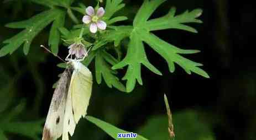
[{"label": "pale yellow hindwing on the butterfly's right side", "polygon": [[78,63],[80,66],[75,68],[71,78],[72,107],[76,123],[87,114],[92,93],[92,73],[82,63]]}]

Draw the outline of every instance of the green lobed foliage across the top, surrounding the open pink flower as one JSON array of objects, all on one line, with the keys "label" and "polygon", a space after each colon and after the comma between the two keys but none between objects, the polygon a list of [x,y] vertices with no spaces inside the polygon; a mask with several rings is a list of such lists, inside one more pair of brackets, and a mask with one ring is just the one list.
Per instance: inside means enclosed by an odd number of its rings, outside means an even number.
[{"label": "green lobed foliage across the top, surrounding the open pink flower", "polygon": [[[95,70],[96,70],[96,81],[98,84],[102,82],[102,77],[105,80],[109,88],[115,87],[121,91],[130,92],[134,89],[136,82],[143,84],[141,68],[142,66],[147,67],[150,71],[162,75],[162,73],[151,64],[147,58],[144,47],[145,44],[149,45],[151,49],[159,53],[168,63],[170,72],[175,71],[175,64],[182,67],[186,73],[191,72],[197,73],[203,77],[209,78],[208,74],[203,71],[200,66],[201,63],[196,63],[187,58],[181,56],[182,54],[191,54],[200,52],[198,50],[183,50],[174,45],[161,40],[158,36],[151,33],[151,31],[164,30],[164,29],[180,29],[197,33],[196,29],[185,25],[186,23],[202,23],[201,20],[197,19],[202,14],[201,9],[195,9],[189,12],[188,10],[182,14],[175,14],[176,9],[171,8],[168,14],[163,17],[149,19],[154,13],[156,8],[160,6],[165,0],[154,1],[145,0],[138,10],[133,20],[133,25],[121,25],[114,26],[113,24],[117,21],[126,20],[127,17],[118,16],[113,17],[114,13],[122,9],[125,4],[122,0],[106,1],[106,14],[103,20],[106,21],[108,29],[101,31],[100,33],[93,35],[88,31],[88,28],[83,25],[75,25],[71,30],[64,28],[65,17],[69,17],[77,23],[77,19],[72,11],[85,14],[84,4],[80,3],[79,7],[72,7],[73,1],[34,1],[37,4],[41,4],[50,9],[45,12],[41,12],[34,17],[25,20],[18,21],[15,23],[9,23],[6,26],[9,28],[24,28],[19,34],[3,41],[5,46],[0,50],[0,56],[5,56],[8,53],[12,54],[19,46],[23,44],[23,52],[25,55],[28,54],[30,44],[34,37],[39,34],[50,23],[51,29],[49,34],[48,45],[51,47],[51,51],[54,54],[58,54],[60,41],[64,40],[64,45],[70,45],[69,40],[74,40],[81,33],[81,29],[85,28],[83,37],[85,40],[92,42],[93,48],[91,55],[88,60],[85,60],[86,64],[90,64],[95,58]],[[66,8],[66,10],[63,10]],[[62,36],[60,35],[62,34]],[[110,50],[116,51],[118,47],[126,48],[126,45],[122,43],[122,40],[128,38],[128,49],[125,56],[118,56],[123,58],[119,60],[111,53]],[[127,80],[126,89],[124,85],[119,81],[117,77],[117,69],[123,69],[127,67],[127,72],[122,78]]]}]

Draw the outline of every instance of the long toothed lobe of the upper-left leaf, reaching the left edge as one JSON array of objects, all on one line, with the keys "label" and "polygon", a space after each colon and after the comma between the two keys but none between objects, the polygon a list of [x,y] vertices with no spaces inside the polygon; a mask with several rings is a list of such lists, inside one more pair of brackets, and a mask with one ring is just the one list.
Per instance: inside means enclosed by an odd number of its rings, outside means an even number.
[{"label": "long toothed lobe of the upper-left leaf, reaching the left edge", "polygon": [[[11,28],[25,28],[23,31],[17,35],[5,40],[3,43],[6,44],[0,50],[0,57],[12,54],[19,46],[24,44],[24,53],[27,55],[29,51],[30,44],[34,37],[39,34],[45,26],[49,25],[52,21],[62,13],[60,9],[51,9],[46,12],[42,12],[32,19],[20,21],[18,23],[7,24]],[[26,25],[27,23],[27,25]]]}]

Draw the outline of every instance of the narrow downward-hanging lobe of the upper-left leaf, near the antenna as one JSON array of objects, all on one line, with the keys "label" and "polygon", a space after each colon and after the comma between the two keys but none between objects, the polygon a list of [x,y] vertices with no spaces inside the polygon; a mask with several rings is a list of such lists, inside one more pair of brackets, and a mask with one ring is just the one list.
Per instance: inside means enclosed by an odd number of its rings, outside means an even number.
[{"label": "narrow downward-hanging lobe of the upper-left leaf, near the antenna", "polygon": [[53,52],[55,55],[58,54],[60,43],[60,33],[58,29],[64,26],[65,17],[65,12],[59,13],[51,26],[48,45],[51,47],[51,52]]}]

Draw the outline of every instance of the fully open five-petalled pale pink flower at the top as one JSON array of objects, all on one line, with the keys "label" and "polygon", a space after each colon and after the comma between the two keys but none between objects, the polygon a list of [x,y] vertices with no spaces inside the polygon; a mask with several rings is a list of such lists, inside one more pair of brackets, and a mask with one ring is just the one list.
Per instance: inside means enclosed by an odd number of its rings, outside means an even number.
[{"label": "fully open five-petalled pale pink flower at the top", "polygon": [[83,23],[90,24],[90,31],[91,33],[96,33],[98,29],[106,30],[107,24],[105,21],[100,20],[103,15],[105,14],[104,8],[98,8],[96,14],[93,7],[89,6],[86,8],[86,14],[83,16]]}]

